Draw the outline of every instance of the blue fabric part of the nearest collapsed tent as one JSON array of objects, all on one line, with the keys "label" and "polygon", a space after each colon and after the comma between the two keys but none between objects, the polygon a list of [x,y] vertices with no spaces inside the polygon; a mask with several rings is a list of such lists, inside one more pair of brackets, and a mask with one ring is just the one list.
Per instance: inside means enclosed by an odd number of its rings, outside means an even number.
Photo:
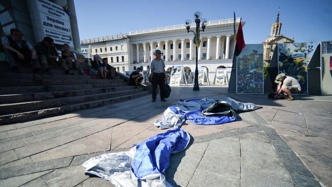
[{"label": "blue fabric part of the nearest collapsed tent", "polygon": [[171,153],[184,150],[189,141],[189,134],[176,128],[141,142],[132,161],[132,172],[142,180],[156,178],[169,167]]}]

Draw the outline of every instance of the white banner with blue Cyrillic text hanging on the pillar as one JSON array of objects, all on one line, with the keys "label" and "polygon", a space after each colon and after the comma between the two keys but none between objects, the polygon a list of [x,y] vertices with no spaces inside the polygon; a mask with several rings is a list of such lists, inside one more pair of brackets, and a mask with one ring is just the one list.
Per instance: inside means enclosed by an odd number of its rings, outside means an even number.
[{"label": "white banner with blue Cyrillic text hanging on the pillar", "polygon": [[36,2],[44,36],[53,38],[56,44],[66,43],[70,48],[74,48],[69,15],[61,6],[50,1],[37,0]]}]

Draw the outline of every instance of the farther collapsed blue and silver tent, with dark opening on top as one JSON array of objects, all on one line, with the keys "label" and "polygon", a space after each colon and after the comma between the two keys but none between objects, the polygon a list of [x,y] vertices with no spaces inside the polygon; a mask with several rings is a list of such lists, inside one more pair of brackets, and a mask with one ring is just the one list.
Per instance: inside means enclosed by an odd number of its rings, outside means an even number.
[{"label": "farther collapsed blue and silver tent, with dark opening on top", "polygon": [[200,125],[224,124],[236,120],[235,112],[249,112],[260,108],[262,106],[235,101],[229,97],[223,97],[218,101],[207,97],[188,99],[178,101],[166,109],[154,125],[160,129],[179,127],[186,119]]}]

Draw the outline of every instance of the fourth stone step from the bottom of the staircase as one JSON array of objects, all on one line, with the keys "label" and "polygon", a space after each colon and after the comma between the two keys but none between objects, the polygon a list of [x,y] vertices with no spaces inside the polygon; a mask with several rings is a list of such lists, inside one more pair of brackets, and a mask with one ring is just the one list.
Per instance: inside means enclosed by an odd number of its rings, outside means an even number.
[{"label": "fourth stone step from the bottom of the staircase", "polygon": [[1,79],[0,87],[121,83],[123,79]]}]

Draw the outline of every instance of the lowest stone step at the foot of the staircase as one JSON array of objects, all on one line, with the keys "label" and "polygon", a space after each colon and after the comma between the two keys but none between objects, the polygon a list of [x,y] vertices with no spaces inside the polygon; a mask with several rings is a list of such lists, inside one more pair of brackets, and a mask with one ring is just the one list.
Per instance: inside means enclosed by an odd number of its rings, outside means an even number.
[{"label": "lowest stone step at the foot of the staircase", "polygon": [[143,92],[139,89],[130,89],[117,92],[99,93],[90,95],[81,95],[74,97],[62,97],[54,99],[37,100],[30,102],[16,102],[9,104],[0,104],[0,115],[16,114],[22,112],[36,111],[42,109],[55,108],[62,105],[75,104],[81,102],[88,102],[94,100],[102,100],[113,97],[120,97],[130,95],[138,92]]}]

